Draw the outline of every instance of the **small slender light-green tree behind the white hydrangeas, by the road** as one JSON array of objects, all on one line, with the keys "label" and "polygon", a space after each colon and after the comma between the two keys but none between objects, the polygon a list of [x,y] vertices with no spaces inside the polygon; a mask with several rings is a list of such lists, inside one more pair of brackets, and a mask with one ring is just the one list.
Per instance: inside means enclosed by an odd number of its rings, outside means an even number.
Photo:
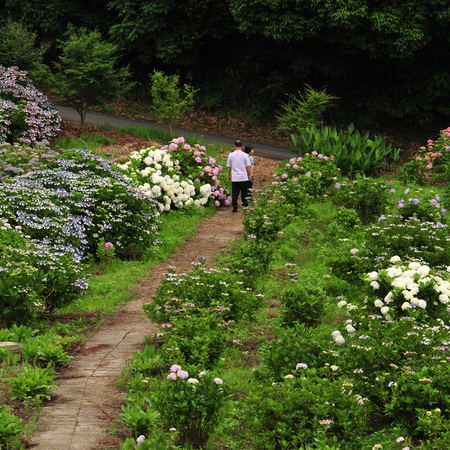
[{"label": "small slender light-green tree behind the white hydrangeas, by the road", "polygon": [[194,107],[197,91],[188,84],[179,87],[178,75],[169,76],[155,70],[151,79],[153,112],[158,121],[168,125],[172,136],[172,125]]}]

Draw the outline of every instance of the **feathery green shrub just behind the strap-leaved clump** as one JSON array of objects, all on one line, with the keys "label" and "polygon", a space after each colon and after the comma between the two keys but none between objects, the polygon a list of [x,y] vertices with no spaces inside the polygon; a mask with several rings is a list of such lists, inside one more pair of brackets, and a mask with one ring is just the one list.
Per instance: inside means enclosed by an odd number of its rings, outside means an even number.
[{"label": "feathery green shrub just behind the strap-leaved clump", "polygon": [[318,127],[323,119],[323,113],[336,97],[326,93],[326,89],[316,90],[305,85],[305,92],[299,96],[289,96],[289,101],[283,103],[283,112],[277,116],[281,130],[300,134],[311,126]]}]

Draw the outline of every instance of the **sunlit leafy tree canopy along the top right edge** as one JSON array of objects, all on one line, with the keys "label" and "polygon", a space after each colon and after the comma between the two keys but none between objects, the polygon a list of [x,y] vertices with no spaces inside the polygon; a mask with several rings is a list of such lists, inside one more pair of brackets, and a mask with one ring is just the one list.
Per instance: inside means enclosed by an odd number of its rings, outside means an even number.
[{"label": "sunlit leafy tree canopy along the top right edge", "polygon": [[[407,58],[430,42],[430,27],[448,22],[442,0],[230,0],[241,32],[276,41],[314,38],[347,52]],[[448,2],[444,2],[447,3]],[[445,8],[448,9],[448,6]]]}]

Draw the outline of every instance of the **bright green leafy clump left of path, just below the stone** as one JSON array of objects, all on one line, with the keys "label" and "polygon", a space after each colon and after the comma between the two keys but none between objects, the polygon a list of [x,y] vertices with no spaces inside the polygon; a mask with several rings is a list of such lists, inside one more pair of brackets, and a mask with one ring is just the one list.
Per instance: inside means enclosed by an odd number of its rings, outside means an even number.
[{"label": "bright green leafy clump left of path, just below the stone", "polygon": [[15,377],[8,379],[12,399],[50,400],[51,391],[57,387],[54,379],[53,368],[41,369],[24,365]]}]

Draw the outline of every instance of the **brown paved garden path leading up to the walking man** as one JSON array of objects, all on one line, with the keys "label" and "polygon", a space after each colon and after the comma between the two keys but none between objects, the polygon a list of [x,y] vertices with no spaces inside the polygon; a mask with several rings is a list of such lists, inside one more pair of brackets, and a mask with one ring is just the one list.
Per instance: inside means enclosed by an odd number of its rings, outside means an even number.
[{"label": "brown paved garden path leading up to the walking man", "polygon": [[215,255],[242,233],[242,214],[219,208],[198,225],[196,236],[179,248],[169,261],[155,266],[141,281],[136,299],[88,339],[83,350],[56,379],[56,401],[43,406],[31,445],[37,450],[111,449],[119,439],[110,435],[114,418],[120,413],[123,393],[117,387],[124,358],[143,347],[143,340],[155,334],[157,325],[144,317],[148,303],[167,269],[189,272],[199,258],[213,265]]}]

